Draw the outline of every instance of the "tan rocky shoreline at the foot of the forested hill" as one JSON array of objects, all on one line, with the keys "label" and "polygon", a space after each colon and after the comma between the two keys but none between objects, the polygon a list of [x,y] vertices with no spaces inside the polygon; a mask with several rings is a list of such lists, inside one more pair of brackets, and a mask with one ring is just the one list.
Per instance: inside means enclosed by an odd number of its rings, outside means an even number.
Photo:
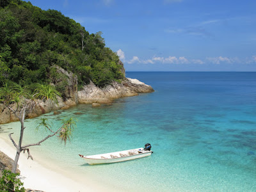
[{"label": "tan rocky shoreline at the foot of the forested hill", "polygon": [[[120,65],[124,66],[120,61]],[[65,88],[65,100],[58,97],[58,104],[52,105],[50,102],[42,102],[38,100],[38,105],[26,114],[26,118],[34,118],[50,111],[56,111],[58,109],[67,109],[70,106],[76,106],[79,103],[82,104],[107,104],[113,102],[114,99],[120,97],[130,97],[138,95],[138,93],[150,93],[154,92],[153,88],[137,79],[124,78],[122,83],[113,82],[104,88],[95,86],[92,82],[83,87],[83,90],[77,91],[77,77],[63,70],[63,68],[56,67],[57,71],[67,76],[67,86]],[[123,67],[124,69],[124,67]],[[122,70],[125,73],[125,70]],[[14,109],[16,104],[12,106]],[[15,122],[18,119],[10,113],[8,108],[4,108],[0,104],[0,124],[7,124],[9,122]]]}]

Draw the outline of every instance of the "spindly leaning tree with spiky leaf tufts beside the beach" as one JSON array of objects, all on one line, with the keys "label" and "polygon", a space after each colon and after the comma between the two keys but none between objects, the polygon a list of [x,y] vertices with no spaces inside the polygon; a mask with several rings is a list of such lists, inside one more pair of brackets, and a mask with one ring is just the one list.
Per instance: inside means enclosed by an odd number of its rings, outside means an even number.
[{"label": "spindly leaning tree with spiky leaf tufts beside the beach", "polygon": [[35,109],[35,107],[40,104],[41,101],[47,101],[50,104],[58,103],[58,95],[60,95],[60,92],[58,92],[55,87],[51,86],[50,84],[36,84],[35,88],[33,89],[26,86],[22,87],[19,84],[10,85],[7,83],[4,83],[4,85],[0,87],[0,101],[6,108],[12,111],[12,113],[20,121],[19,143],[16,143],[13,140],[13,133],[9,134],[9,138],[12,141],[14,147],[16,148],[16,156],[12,167],[12,173],[16,172],[21,152],[28,152],[28,157],[31,157],[31,159],[33,159],[29,152],[29,147],[40,145],[42,142],[51,138],[52,136],[58,136],[61,141],[64,141],[65,145],[67,141],[71,140],[72,131],[76,127],[76,120],[74,120],[74,118],[67,118],[63,120],[61,127],[59,127],[58,129],[52,129],[51,124],[49,124],[47,119],[41,118],[41,120],[37,122],[38,125],[35,128],[39,129],[43,127],[46,131],[49,132],[49,135],[46,136],[43,140],[38,141],[37,143],[22,145],[26,113],[33,111],[33,109]]}]

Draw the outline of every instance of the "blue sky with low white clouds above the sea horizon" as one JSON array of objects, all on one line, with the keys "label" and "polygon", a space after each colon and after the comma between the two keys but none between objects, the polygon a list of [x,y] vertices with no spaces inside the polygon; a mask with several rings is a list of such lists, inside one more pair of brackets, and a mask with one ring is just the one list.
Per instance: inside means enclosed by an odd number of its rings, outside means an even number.
[{"label": "blue sky with low white clouds above the sea horizon", "polygon": [[255,0],[44,0],[106,47],[127,71],[256,71]]}]

